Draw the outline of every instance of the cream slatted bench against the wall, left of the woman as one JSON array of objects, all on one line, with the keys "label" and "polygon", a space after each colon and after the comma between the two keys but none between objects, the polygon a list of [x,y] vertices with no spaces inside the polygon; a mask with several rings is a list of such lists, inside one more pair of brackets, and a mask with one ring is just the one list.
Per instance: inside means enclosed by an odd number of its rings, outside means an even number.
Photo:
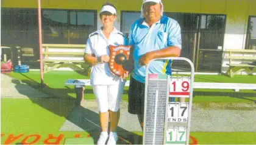
[{"label": "cream slatted bench against the wall, left of the woman", "polygon": [[66,66],[69,68],[75,66],[80,71],[88,67],[84,62],[85,44],[42,44],[42,46],[44,73]]}]

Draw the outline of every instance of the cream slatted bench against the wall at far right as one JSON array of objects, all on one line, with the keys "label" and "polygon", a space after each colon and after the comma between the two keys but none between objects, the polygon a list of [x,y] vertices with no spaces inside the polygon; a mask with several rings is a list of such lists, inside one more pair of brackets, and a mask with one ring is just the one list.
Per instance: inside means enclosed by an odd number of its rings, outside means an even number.
[{"label": "cream slatted bench against the wall at far right", "polygon": [[[226,58],[229,59],[229,69],[226,75],[233,77],[241,71],[256,72],[256,50],[253,49],[226,49],[229,55]],[[237,63],[238,60],[241,63]],[[255,64],[254,64],[255,63]]]}]

